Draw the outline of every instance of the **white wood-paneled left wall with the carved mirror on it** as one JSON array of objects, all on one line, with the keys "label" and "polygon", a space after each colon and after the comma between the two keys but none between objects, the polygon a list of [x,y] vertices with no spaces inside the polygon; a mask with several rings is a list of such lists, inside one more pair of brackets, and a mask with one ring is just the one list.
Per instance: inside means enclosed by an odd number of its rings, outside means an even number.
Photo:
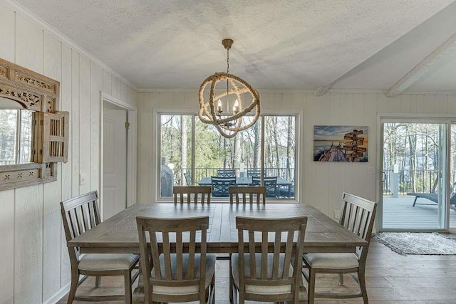
[{"label": "white wood-paneled left wall with the carved mirror on it", "polygon": [[[0,303],[53,303],[70,282],[59,203],[99,191],[100,91],[136,104],[136,92],[65,40],[0,1],[0,58],[61,82],[70,111],[68,162],[56,182],[0,192]],[[79,174],[86,184],[79,185]]]}]

